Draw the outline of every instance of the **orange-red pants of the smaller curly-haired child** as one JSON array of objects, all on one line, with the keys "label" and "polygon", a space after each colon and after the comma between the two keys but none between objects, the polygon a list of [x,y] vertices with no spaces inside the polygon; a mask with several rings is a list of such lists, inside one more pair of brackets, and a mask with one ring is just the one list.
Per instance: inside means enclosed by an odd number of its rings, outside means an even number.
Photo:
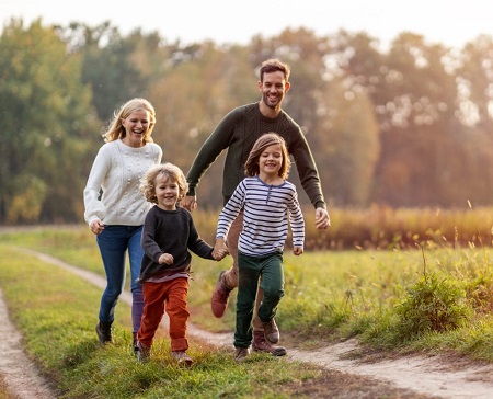
[{"label": "orange-red pants of the smaller curly-haired child", "polygon": [[137,339],[151,346],[164,311],[170,317],[171,351],[186,351],[186,321],[190,312],[186,305],[188,278],[173,278],[162,283],[144,283],[144,314]]}]

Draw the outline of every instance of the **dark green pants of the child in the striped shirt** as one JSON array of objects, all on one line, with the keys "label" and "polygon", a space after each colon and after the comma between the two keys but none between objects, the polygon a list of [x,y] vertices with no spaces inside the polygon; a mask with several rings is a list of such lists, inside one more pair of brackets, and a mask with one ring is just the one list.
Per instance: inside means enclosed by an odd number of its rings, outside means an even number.
[{"label": "dark green pants of the child in the striped shirt", "polygon": [[238,297],[234,346],[249,347],[252,343],[252,318],[259,281],[264,298],[259,308],[263,322],[271,321],[284,296],[283,253],[273,252],[261,256],[238,253]]}]

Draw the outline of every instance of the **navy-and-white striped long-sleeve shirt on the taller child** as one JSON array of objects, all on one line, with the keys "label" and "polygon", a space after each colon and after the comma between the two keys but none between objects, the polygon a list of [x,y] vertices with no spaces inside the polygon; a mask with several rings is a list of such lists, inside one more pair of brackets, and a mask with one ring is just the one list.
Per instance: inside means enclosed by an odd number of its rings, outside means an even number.
[{"label": "navy-and-white striped long-sleeve shirt on the taller child", "polygon": [[259,176],[243,179],[219,215],[216,238],[227,236],[241,209],[244,217],[238,243],[240,252],[255,256],[283,251],[288,219],[293,244],[303,247],[305,220],[293,183],[285,181],[280,185],[268,185]]}]

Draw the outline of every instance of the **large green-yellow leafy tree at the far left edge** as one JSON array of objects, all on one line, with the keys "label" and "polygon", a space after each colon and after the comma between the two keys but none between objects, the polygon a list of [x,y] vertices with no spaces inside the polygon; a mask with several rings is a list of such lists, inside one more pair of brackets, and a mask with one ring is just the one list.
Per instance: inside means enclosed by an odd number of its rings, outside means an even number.
[{"label": "large green-yellow leafy tree at the far left edge", "polygon": [[12,20],[0,53],[0,220],[80,219],[81,166],[96,119],[80,59],[41,20],[27,29]]}]

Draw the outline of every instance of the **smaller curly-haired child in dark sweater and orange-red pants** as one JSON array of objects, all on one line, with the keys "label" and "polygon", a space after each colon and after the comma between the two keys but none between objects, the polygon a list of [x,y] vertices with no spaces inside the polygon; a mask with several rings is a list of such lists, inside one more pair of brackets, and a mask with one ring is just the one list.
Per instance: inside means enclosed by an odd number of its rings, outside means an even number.
[{"label": "smaller curly-haired child in dark sweater and orange-red pants", "polygon": [[226,250],[216,251],[195,229],[188,210],[176,203],[188,190],[185,175],[174,164],[158,164],[149,169],[140,190],[146,200],[157,204],[144,221],[144,258],[138,283],[142,284],[144,315],[137,333],[139,362],[150,355],[152,340],[164,310],[170,317],[171,354],[181,364],[193,360],[186,354],[186,305],[192,254],[220,260]]}]

